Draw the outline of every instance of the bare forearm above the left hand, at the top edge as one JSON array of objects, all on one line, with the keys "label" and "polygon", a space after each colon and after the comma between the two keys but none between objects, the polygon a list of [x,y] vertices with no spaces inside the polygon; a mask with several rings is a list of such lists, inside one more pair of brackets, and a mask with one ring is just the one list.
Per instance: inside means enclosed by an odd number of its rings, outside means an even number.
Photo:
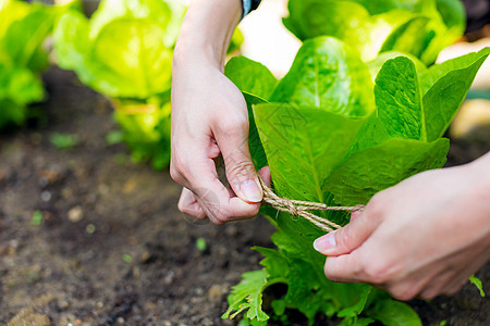
[{"label": "bare forearm above the left hand, at the top edge", "polygon": [[192,1],[175,46],[174,67],[182,62],[205,62],[222,70],[242,14],[241,0]]}]

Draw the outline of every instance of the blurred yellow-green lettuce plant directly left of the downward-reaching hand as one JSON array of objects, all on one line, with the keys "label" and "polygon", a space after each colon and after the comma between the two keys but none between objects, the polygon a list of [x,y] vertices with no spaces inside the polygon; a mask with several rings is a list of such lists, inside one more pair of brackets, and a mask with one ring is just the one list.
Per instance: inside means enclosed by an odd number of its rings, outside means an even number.
[{"label": "blurred yellow-green lettuce plant directly left of the downward-reaching hand", "polygon": [[[179,1],[102,0],[88,20],[65,13],[54,32],[57,63],[107,96],[135,162],[170,162],[172,52],[185,7]],[[243,41],[235,33],[231,49]]]}]

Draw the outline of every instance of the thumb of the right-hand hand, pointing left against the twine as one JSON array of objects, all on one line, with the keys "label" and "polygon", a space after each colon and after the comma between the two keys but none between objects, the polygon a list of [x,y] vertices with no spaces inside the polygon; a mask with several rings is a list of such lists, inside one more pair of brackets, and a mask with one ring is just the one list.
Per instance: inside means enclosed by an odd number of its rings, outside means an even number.
[{"label": "thumb of the right-hand hand, pointing left against the twine", "polygon": [[[354,211],[351,223],[324,235],[314,242],[314,248],[324,255],[341,255],[351,253],[372,234],[378,226],[378,218],[369,216],[368,211]],[[354,218],[353,218],[354,217]]]}]

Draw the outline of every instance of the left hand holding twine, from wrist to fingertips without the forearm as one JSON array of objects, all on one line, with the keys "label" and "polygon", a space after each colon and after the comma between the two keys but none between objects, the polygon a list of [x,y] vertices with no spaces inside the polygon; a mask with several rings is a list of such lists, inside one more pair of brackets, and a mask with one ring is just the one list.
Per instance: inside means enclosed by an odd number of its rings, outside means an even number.
[{"label": "left hand holding twine, from wrist to fingertips without the forearm", "polygon": [[[216,65],[174,63],[171,147],[170,174],[184,186],[183,213],[217,225],[257,215],[262,191],[248,150],[247,106]],[[220,154],[231,189],[218,177]]]}]

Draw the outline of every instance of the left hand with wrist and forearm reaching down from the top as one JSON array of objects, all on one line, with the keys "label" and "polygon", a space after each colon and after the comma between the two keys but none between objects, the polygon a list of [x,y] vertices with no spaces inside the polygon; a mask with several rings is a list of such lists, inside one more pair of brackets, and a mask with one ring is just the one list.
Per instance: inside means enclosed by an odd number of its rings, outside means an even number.
[{"label": "left hand with wrist and forearm reaching down from the top", "polygon": [[[241,16],[241,1],[193,1],[174,51],[170,173],[184,186],[179,209],[215,224],[255,216],[262,199],[246,103],[222,73]],[[230,187],[217,173],[220,154]]]}]

